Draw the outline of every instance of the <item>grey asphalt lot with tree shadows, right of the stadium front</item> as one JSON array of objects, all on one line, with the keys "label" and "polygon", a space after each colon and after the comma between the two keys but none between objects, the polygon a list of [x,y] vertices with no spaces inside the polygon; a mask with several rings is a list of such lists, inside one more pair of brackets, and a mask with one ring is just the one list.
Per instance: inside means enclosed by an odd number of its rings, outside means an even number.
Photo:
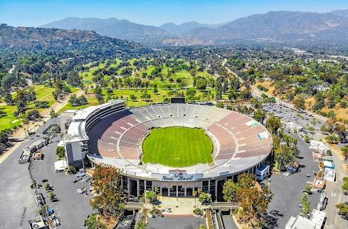
[{"label": "grey asphalt lot with tree shadows, right of the stadium front", "polygon": [[[296,159],[305,167],[301,168],[301,172],[294,173],[289,177],[285,177],[283,173],[273,173],[269,180],[264,180],[274,193],[274,198],[268,207],[267,228],[285,228],[287,221],[291,216],[300,214],[299,204],[301,204],[302,190],[306,187],[307,181],[313,181],[313,171],[317,172],[319,167],[317,162],[313,161],[312,150],[308,149],[308,144],[299,137],[297,148],[300,150],[299,158]],[[310,177],[307,177],[310,174]],[[312,210],[317,208],[320,194],[313,193],[308,195]]]}]

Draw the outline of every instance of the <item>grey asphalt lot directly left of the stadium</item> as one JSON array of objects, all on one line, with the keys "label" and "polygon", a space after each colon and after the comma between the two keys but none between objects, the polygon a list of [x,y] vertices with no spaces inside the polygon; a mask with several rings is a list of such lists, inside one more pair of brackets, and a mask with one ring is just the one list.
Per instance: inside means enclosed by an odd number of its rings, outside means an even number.
[{"label": "grey asphalt lot directly left of the stadium", "polygon": [[[89,183],[83,183],[82,180],[73,183],[76,175],[66,175],[63,172],[56,173],[54,171],[56,145],[59,140],[60,138],[56,137],[54,143],[43,148],[45,158],[42,161],[33,161],[33,177],[39,184],[42,184],[38,190],[44,195],[47,205],[53,208],[54,214],[61,221],[61,226],[58,228],[84,228],[84,220],[92,212],[89,205],[92,195],[89,194],[89,191],[88,195],[78,194],[77,189],[86,187],[88,190]],[[42,182],[44,179],[47,179],[48,183],[53,186],[54,194],[58,198],[56,202],[50,201],[47,197],[47,191],[45,191]]]}]

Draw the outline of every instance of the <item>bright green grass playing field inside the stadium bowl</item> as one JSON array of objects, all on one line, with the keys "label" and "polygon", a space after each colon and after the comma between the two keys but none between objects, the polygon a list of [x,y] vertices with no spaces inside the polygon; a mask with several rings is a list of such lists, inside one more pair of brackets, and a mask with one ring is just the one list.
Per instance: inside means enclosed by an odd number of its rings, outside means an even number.
[{"label": "bright green grass playing field inside the stadium bowl", "polygon": [[172,167],[212,162],[213,144],[204,129],[167,127],[152,129],[143,143],[143,161]]}]

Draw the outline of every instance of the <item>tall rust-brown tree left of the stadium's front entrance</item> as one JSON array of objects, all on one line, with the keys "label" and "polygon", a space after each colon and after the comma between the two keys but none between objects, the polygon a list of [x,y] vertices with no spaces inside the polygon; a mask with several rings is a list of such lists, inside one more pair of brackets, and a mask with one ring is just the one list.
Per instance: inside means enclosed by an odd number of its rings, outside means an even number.
[{"label": "tall rust-brown tree left of the stadium's front entrance", "polygon": [[101,214],[118,216],[124,207],[125,195],[121,185],[120,170],[113,166],[95,166],[93,188],[97,194],[90,200],[93,209]]}]

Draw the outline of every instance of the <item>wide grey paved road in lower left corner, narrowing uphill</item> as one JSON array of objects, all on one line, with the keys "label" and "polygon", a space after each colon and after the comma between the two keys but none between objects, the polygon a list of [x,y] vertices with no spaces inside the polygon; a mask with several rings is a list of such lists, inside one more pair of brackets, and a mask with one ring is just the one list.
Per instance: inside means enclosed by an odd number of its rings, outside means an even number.
[{"label": "wide grey paved road in lower left corner, narrowing uphill", "polygon": [[[52,121],[48,121],[47,126]],[[38,131],[42,134],[43,129]],[[32,136],[22,141],[0,166],[0,228],[28,228],[27,220],[38,216],[38,206],[30,188],[29,163],[19,164],[23,149],[40,137]]]}]

